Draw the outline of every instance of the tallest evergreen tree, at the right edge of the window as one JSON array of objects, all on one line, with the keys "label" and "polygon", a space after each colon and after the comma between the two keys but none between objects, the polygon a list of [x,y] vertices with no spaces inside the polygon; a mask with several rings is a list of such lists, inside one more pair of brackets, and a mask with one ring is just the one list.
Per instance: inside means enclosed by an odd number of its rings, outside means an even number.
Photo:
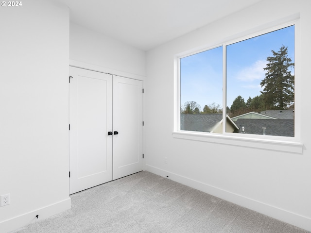
[{"label": "tallest evergreen tree, at the right edge of the window", "polygon": [[285,109],[294,103],[294,75],[289,70],[294,67],[287,56],[287,47],[282,45],[279,51],[272,50],[273,56],[267,57],[265,79],[260,83],[265,105],[269,109]]}]

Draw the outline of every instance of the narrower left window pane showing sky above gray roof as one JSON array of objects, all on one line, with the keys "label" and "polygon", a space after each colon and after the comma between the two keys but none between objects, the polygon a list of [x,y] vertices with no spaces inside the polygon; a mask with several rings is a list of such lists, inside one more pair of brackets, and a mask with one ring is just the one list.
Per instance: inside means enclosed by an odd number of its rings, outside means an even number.
[{"label": "narrower left window pane showing sky above gray roof", "polygon": [[180,59],[180,129],[222,133],[223,47]]}]

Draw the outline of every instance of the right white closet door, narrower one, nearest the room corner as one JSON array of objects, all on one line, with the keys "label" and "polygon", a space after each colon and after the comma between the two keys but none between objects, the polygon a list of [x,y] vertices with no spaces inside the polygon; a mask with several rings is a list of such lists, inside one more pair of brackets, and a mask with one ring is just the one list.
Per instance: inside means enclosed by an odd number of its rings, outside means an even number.
[{"label": "right white closet door, narrower one, nearest the room corner", "polygon": [[142,127],[142,81],[113,76],[114,180],[142,170]]}]

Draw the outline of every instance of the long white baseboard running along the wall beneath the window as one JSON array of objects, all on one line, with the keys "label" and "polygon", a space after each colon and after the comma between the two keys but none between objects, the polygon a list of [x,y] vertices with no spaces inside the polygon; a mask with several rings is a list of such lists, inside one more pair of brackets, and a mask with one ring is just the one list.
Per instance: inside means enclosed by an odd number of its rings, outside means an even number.
[{"label": "long white baseboard running along the wall beneath the window", "polygon": [[224,189],[209,185],[207,183],[198,182],[187,177],[157,168],[155,166],[145,165],[145,170],[152,172],[159,176],[169,176],[168,178],[172,181],[182,183],[189,187],[195,188],[197,190],[203,191],[215,197],[233,202],[245,208],[254,210],[261,214],[271,216],[283,222],[289,223],[291,225],[297,226],[299,228],[311,231],[311,218],[307,216],[301,216],[293,212],[260,202],[258,200],[253,200],[241,195],[226,191]]}]

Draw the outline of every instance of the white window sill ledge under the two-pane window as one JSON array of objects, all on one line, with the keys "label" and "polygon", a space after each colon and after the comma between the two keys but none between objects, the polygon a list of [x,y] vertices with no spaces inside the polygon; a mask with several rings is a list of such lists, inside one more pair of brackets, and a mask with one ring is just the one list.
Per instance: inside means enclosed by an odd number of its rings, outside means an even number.
[{"label": "white window sill ledge under the two-pane window", "polygon": [[243,136],[223,135],[216,133],[200,132],[173,132],[173,138],[202,141],[209,143],[225,144],[262,150],[276,150],[301,154],[303,144],[293,140],[274,140],[268,138],[252,138]]}]

